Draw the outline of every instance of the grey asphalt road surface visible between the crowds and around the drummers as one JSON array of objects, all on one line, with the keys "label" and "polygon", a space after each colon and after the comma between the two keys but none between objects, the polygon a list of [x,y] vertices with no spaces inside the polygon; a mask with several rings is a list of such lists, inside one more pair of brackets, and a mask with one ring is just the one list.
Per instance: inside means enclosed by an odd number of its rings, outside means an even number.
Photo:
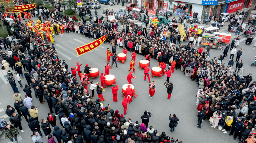
[{"label": "grey asphalt road surface visible between the crowds and around the drummers", "polygon": [[[125,4],[126,5],[126,4]],[[102,9],[109,8],[109,5],[103,5]],[[111,8],[120,8],[121,5],[115,5]],[[102,13],[102,9],[97,10],[98,14]],[[92,12],[93,16],[94,13]],[[35,20],[35,18],[34,18]],[[24,22],[24,21],[23,21]],[[224,29],[224,28],[223,28]],[[227,29],[227,28],[226,28]],[[225,30],[224,30],[225,31]],[[233,34],[234,35],[234,34]],[[241,36],[241,39],[243,36]],[[80,34],[75,33],[64,33],[58,36],[55,36],[54,39],[56,42],[55,48],[60,56],[60,59],[66,60],[68,67],[76,65],[76,62],[79,62],[78,56],[76,54],[75,48],[79,46],[83,46],[89,42],[92,42],[95,39],[88,39]],[[168,39],[169,40],[169,39]],[[254,40],[255,41],[255,40]],[[185,41],[186,42],[186,41]],[[245,39],[244,39],[245,42]],[[253,42],[254,44],[254,42]],[[252,45],[253,45],[252,44]],[[95,50],[88,52],[86,54],[81,55],[79,58],[82,61],[83,65],[89,64],[89,67],[94,66],[98,68],[101,72],[104,72],[104,67],[106,65],[106,50],[110,48],[110,44],[102,44]],[[197,47],[197,46],[196,46]],[[244,63],[243,75],[248,75],[252,73],[252,77],[255,78],[255,74],[253,71],[255,67],[251,67],[250,64],[254,60],[255,56],[255,47],[253,46],[245,46],[243,42],[240,42],[238,48],[243,48],[243,55],[241,56],[241,60]],[[116,49],[116,53],[122,53],[121,48]],[[219,49],[212,49],[210,52],[211,59],[214,57],[219,57],[223,51]],[[230,54],[230,53],[228,53]],[[123,106],[122,106],[122,90],[121,87],[128,83],[126,80],[126,76],[128,75],[129,69],[129,61],[131,61],[131,52],[127,53],[127,61],[122,64],[120,61],[118,62],[118,68],[113,66],[113,69],[110,69],[109,74],[115,75],[116,84],[119,85],[118,90],[118,102],[113,102],[112,100],[112,92],[111,86],[105,88],[106,92],[103,92],[103,97],[107,100],[103,102],[104,106],[110,104],[111,108],[114,110],[119,110],[120,114],[123,114]],[[236,56],[235,56],[236,57]],[[132,84],[135,87],[135,92],[138,95],[137,98],[133,99],[131,104],[127,105],[127,115],[125,118],[132,118],[133,122],[139,121],[141,123],[140,116],[143,115],[144,110],[148,110],[151,112],[152,117],[149,119],[149,126],[152,125],[154,129],[157,129],[159,133],[166,132],[166,134],[170,137],[174,137],[175,139],[180,139],[184,143],[205,143],[205,142],[223,142],[223,143],[234,143],[239,142],[238,139],[236,141],[233,140],[232,137],[227,134],[223,134],[223,132],[218,131],[217,128],[211,128],[211,124],[207,121],[202,123],[202,128],[198,129],[196,127],[197,124],[197,110],[196,110],[196,97],[194,95],[197,91],[196,82],[192,82],[189,80],[189,77],[183,75],[180,70],[175,70],[170,78],[170,82],[173,83],[174,88],[172,92],[171,100],[167,100],[167,92],[164,86],[164,82],[166,82],[166,75],[162,76],[161,79],[159,77],[154,77],[152,80],[156,81],[156,93],[153,98],[150,98],[148,95],[148,81],[144,81],[144,71],[143,69],[139,69],[139,60],[144,59],[144,56],[136,55],[136,66],[135,73],[133,75],[136,76],[136,79],[132,79]],[[225,58],[224,63],[227,65],[229,58]],[[111,60],[112,61],[112,60]],[[110,62],[111,63],[111,62]],[[158,66],[158,62],[155,60],[151,60],[150,69],[152,67]],[[83,68],[81,68],[83,69]],[[70,70],[70,69],[69,69]],[[14,72],[14,71],[13,71]],[[151,74],[150,74],[151,75]],[[0,98],[0,116],[5,117],[5,120],[8,122],[9,117],[5,115],[5,109],[7,105],[13,106],[14,100],[12,98],[13,91],[8,82],[6,82],[4,77],[0,75],[2,78],[2,82],[0,83],[0,91],[2,92]],[[93,81],[100,82],[100,77],[96,77]],[[255,79],[254,79],[255,80]],[[253,80],[253,81],[254,81]],[[26,84],[26,80],[22,79],[23,86]],[[24,97],[25,93],[23,89],[18,88],[21,95]],[[89,89],[89,88],[88,88]],[[33,97],[33,105],[38,107],[39,111],[39,120],[47,117],[47,113],[49,112],[48,105],[40,104],[39,100],[35,98],[34,91],[32,91]],[[89,90],[90,92],[90,90]],[[45,101],[45,99],[44,99]],[[177,117],[180,119],[179,125],[176,127],[175,132],[171,133],[169,130],[169,115],[170,113],[175,113]],[[32,134],[31,130],[28,128],[28,124],[24,118],[22,118],[22,126],[24,132],[18,135],[18,139],[20,143],[31,142],[30,134]],[[57,119],[59,120],[59,119]],[[58,122],[57,125],[60,125]],[[41,130],[42,131],[42,130]],[[43,132],[43,131],[42,131]],[[1,143],[9,143],[9,139],[4,139],[4,135],[0,136]],[[46,137],[43,137],[43,142],[47,142]]]}]

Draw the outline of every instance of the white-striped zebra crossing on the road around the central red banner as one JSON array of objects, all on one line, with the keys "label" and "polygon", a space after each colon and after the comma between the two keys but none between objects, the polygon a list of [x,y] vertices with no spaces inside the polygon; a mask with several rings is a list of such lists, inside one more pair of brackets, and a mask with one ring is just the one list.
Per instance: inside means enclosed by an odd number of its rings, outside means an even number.
[{"label": "white-striped zebra crossing on the road around the central red banner", "polygon": [[[79,46],[83,46],[85,44],[88,44],[92,41],[90,41],[88,38],[79,37],[79,39],[73,39],[68,41],[63,41],[59,44],[54,44],[55,50],[63,59],[72,60],[76,59],[78,55],[76,54],[76,48]],[[105,48],[105,46],[99,46],[98,48]],[[96,48],[95,50],[99,50]],[[89,53],[92,53],[94,50],[90,51]],[[86,54],[86,53],[85,53]]]}]

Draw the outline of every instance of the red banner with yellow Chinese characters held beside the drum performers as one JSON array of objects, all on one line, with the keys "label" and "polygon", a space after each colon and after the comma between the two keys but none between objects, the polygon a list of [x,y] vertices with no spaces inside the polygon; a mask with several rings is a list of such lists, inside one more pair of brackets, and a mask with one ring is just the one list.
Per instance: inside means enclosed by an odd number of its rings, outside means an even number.
[{"label": "red banner with yellow Chinese characters held beside the drum performers", "polygon": [[78,48],[76,48],[76,53],[78,56],[87,53],[89,51],[92,51],[93,49],[97,48],[98,46],[100,46],[105,40],[107,39],[107,36],[104,35],[103,37],[100,37],[99,39],[86,44],[84,46],[80,46]]}]

